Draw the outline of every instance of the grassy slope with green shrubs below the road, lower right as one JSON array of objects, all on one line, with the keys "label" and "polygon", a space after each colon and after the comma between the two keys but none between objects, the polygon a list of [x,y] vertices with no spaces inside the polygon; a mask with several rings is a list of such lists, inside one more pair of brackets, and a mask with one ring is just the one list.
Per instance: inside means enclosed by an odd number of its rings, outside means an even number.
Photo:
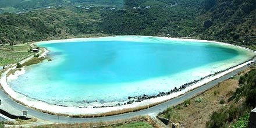
[{"label": "grassy slope with green shrubs below the road, lower right", "polygon": [[[239,74],[191,98],[190,105],[185,106],[183,102],[182,105],[169,107],[159,116],[179,123],[181,127],[235,127],[246,124],[248,120],[244,117],[255,108],[256,69],[253,66]],[[237,123],[237,120],[243,121]]]}]

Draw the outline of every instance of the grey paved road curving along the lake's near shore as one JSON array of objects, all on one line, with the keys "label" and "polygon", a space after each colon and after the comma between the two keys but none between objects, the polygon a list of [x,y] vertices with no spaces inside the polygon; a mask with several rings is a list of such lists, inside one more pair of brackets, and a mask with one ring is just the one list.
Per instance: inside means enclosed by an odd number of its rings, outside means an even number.
[{"label": "grey paved road curving along the lake's near shore", "polygon": [[137,112],[130,112],[125,113],[122,115],[115,115],[115,116],[106,116],[102,118],[69,118],[69,117],[63,117],[63,116],[55,116],[55,115],[49,115],[47,113],[42,113],[39,111],[35,111],[34,109],[28,108],[26,106],[20,105],[17,102],[13,101],[11,98],[8,97],[3,91],[0,91],[0,97],[2,97],[4,102],[10,106],[12,106],[13,109],[17,110],[28,110],[29,115],[34,116],[36,118],[40,118],[43,120],[48,120],[55,123],[80,123],[80,122],[104,122],[104,121],[112,121],[112,120],[118,120],[118,119],[127,119],[127,118],[133,118],[134,116],[139,115],[155,115],[164,109],[166,109],[168,106],[179,104],[180,102],[183,102],[185,99],[191,98],[194,95],[201,93],[202,91],[208,90],[209,88],[215,86],[219,82],[229,79],[230,77],[234,76],[235,74],[239,73],[242,70],[247,69],[248,66],[241,67],[240,69],[234,70],[233,72],[226,74],[223,77],[220,77],[219,79],[216,79],[214,81],[209,82],[208,84],[205,84],[205,86],[202,86],[200,88],[197,88],[193,91],[190,91],[189,93],[186,93],[180,97],[177,97],[175,99],[172,99],[168,102],[164,102],[162,104],[159,104],[157,106],[153,106],[148,109],[144,109]]}]

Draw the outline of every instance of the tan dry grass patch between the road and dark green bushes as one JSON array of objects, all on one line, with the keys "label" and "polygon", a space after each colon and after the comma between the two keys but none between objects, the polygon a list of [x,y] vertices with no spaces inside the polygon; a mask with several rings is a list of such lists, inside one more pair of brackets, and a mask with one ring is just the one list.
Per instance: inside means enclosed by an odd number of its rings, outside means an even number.
[{"label": "tan dry grass patch between the road and dark green bushes", "polygon": [[[244,74],[248,70],[250,69],[239,74]],[[227,103],[227,99],[232,95],[231,92],[234,92],[239,86],[238,79],[239,76],[234,76],[232,79],[222,81],[217,86],[191,98],[191,104],[187,107],[183,105],[175,107],[171,112],[170,121],[179,123],[180,127],[205,127],[214,111],[232,104],[232,102]],[[198,102],[198,99],[201,99],[201,102]],[[224,104],[220,104],[221,99],[225,101]],[[160,116],[163,117],[164,114]]]}]

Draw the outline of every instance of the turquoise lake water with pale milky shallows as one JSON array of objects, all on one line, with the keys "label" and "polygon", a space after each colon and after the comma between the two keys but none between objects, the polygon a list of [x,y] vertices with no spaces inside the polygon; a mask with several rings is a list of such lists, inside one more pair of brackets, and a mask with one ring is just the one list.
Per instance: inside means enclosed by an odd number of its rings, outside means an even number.
[{"label": "turquoise lake water with pale milky shallows", "polygon": [[19,93],[52,104],[122,101],[169,91],[253,55],[208,42],[112,38],[42,42],[38,45],[51,51],[52,61],[26,67],[26,73],[9,84]]}]

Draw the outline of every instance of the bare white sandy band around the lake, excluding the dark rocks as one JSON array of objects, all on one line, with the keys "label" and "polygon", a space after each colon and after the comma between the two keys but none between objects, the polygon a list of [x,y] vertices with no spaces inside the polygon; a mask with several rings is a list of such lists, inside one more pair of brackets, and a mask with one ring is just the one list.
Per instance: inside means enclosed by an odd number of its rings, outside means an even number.
[{"label": "bare white sandy band around the lake, excluding the dark rocks", "polygon": [[[129,37],[130,36],[127,36],[127,40],[129,39]],[[214,43],[225,44],[223,42],[216,42],[216,41],[167,38],[167,37],[159,37],[159,38],[165,38],[165,39],[177,40],[177,41],[178,40],[179,41],[198,41],[198,42],[214,42]],[[63,42],[63,41],[79,41],[79,40],[87,40],[87,39],[85,39],[85,38],[78,38],[77,39],[76,38],[76,39],[58,40],[58,41],[44,41],[44,43],[45,42],[46,43],[55,43],[55,42]],[[225,45],[230,45],[230,44],[225,44]],[[42,53],[41,56],[46,56],[47,52],[48,51],[45,49],[44,53]],[[28,59],[26,59],[26,61],[28,61]],[[117,111],[117,110],[127,109],[127,108],[134,108],[134,107],[137,107],[137,106],[150,105],[150,104],[154,104],[155,102],[161,102],[161,101],[165,101],[165,100],[168,100],[168,99],[171,99],[171,98],[175,98],[178,95],[184,94],[187,91],[192,90],[193,88],[200,87],[200,86],[208,83],[209,81],[218,79],[219,77],[224,76],[225,74],[230,73],[233,70],[239,69],[240,67],[243,67],[246,64],[247,63],[243,63],[239,66],[233,67],[232,69],[226,70],[225,72],[216,74],[215,76],[207,77],[206,79],[198,81],[197,83],[195,83],[195,84],[193,84],[193,85],[191,85],[191,86],[189,86],[189,87],[185,88],[184,90],[179,91],[177,93],[172,93],[172,94],[162,96],[162,97],[157,97],[157,98],[145,99],[144,101],[141,101],[141,102],[133,102],[133,104],[106,107],[106,108],[93,108],[93,106],[99,106],[99,104],[97,102],[95,102],[91,106],[88,106],[87,108],[77,107],[77,106],[67,106],[66,107],[66,106],[51,105],[51,104],[47,104],[46,102],[38,101],[36,99],[26,97],[25,95],[16,93],[15,91],[12,90],[12,88],[10,88],[6,79],[16,79],[17,76],[19,76],[20,74],[25,73],[24,67],[22,68],[22,70],[17,71],[15,74],[10,75],[8,78],[6,77],[6,74],[11,69],[15,69],[15,67],[12,67],[12,68],[9,68],[8,70],[6,70],[6,72],[4,72],[1,76],[0,84],[2,85],[3,89],[10,95],[10,97],[16,99],[17,101],[23,102],[24,104],[26,104],[28,106],[32,106],[32,107],[37,108],[37,109],[41,109],[41,110],[44,110],[44,111],[55,112],[55,113],[66,113],[66,114],[70,114],[70,115],[94,114],[94,113],[104,113],[104,112]]]}]

